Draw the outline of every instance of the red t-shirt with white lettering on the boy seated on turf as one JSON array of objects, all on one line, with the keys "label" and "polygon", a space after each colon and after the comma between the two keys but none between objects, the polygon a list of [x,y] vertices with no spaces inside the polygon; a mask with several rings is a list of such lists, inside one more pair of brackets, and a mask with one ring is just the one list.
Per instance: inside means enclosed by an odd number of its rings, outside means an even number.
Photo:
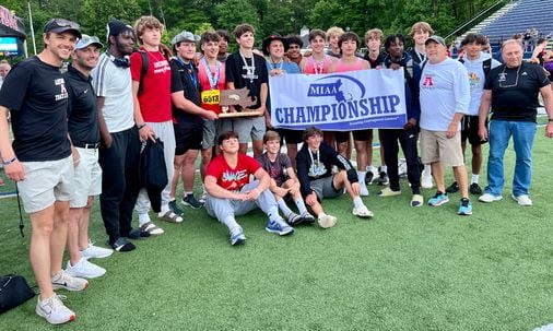
[{"label": "red t-shirt with white lettering on the boy seated on turf", "polygon": [[225,190],[237,191],[249,182],[249,175],[255,174],[260,167],[254,157],[238,153],[238,162],[233,169],[221,154],[208,165],[207,176],[215,177],[217,185]]}]

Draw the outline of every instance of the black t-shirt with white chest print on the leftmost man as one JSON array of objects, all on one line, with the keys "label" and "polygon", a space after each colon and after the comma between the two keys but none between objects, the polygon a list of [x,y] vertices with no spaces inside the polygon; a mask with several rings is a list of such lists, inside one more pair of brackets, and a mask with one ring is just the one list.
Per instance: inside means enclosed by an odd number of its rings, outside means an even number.
[{"label": "black t-shirt with white chest print on the leftmost man", "polygon": [[58,67],[36,56],[13,67],[0,91],[0,105],[11,110],[19,159],[45,162],[71,155],[68,97]]}]

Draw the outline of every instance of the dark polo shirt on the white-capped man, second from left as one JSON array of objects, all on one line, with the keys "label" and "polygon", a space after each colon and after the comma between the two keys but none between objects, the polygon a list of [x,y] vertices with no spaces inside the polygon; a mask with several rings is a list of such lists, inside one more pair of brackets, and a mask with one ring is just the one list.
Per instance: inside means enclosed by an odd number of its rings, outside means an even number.
[{"label": "dark polo shirt on the white-capped man, second from left", "polygon": [[99,142],[98,110],[92,78],[85,76],[71,64],[62,76],[69,93],[68,130],[73,145]]}]

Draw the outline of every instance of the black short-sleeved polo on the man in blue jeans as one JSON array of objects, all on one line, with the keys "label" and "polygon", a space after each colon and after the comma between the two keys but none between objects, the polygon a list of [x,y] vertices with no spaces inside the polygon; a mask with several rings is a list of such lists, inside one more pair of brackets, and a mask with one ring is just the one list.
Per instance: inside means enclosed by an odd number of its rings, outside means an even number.
[{"label": "black short-sleeved polo on the man in blue jeans", "polygon": [[543,68],[536,63],[492,69],[484,84],[484,90],[492,91],[492,119],[536,121],[538,93],[549,84]]}]

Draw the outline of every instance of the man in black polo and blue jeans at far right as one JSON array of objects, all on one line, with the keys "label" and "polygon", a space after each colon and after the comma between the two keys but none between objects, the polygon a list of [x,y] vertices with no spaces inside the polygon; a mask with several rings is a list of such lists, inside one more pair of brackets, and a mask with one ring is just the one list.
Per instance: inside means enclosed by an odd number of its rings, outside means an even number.
[{"label": "man in black polo and blue jeans at far right", "polygon": [[[532,179],[532,147],[536,135],[538,93],[545,103],[549,122],[545,135],[553,138],[553,92],[539,64],[522,62],[522,45],[514,39],[503,44],[505,64],[490,71],[479,109],[479,135],[490,141],[487,186],[479,200],[493,202],[503,199],[505,182],[503,157],[513,135],[516,165],[513,199],[519,205],[530,206],[529,189]],[[492,106],[490,134],[485,120]]]}]

